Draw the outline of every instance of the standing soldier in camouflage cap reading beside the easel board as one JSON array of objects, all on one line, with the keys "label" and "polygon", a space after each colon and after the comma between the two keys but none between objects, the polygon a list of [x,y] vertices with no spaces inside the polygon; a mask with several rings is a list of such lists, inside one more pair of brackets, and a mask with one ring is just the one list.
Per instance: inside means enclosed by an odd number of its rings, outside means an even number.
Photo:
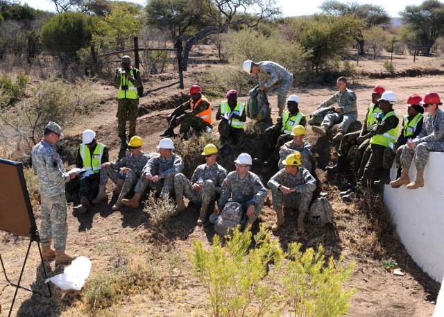
[{"label": "standing soldier in camouflage cap reading beside the easel board", "polygon": [[[56,257],[56,264],[71,262],[78,257],[65,253],[68,235],[65,182],[74,179],[77,173],[65,173],[62,159],[55,147],[61,136],[62,128],[51,121],[45,127],[42,141],[31,151],[33,170],[40,180],[42,222],[39,235],[42,256],[43,259]],[[55,251],[51,249],[52,239]]]}]

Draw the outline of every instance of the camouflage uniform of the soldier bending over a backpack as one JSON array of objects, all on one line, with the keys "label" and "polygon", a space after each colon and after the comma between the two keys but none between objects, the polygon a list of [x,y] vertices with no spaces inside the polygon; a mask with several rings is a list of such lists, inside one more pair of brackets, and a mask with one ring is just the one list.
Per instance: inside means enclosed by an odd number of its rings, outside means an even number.
[{"label": "camouflage uniform of the soldier bending over a backpack", "polygon": [[273,85],[279,85],[278,109],[283,111],[287,94],[291,85],[293,85],[293,74],[275,62],[264,61],[258,62],[257,65],[259,65],[259,73],[257,74],[259,85],[264,85],[267,93],[272,89]]}]

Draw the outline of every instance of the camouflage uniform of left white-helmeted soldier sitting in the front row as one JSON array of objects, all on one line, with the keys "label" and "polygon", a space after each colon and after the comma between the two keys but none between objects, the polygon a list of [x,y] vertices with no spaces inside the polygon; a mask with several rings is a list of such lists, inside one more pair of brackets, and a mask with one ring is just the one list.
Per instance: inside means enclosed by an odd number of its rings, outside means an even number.
[{"label": "camouflage uniform of left white-helmeted soldier sitting in the front row", "polygon": [[[146,163],[134,191],[144,194],[146,187],[149,187],[154,191],[160,192],[160,197],[171,195],[174,189],[174,175],[182,171],[182,169],[182,157],[177,154],[172,153],[169,158],[162,155],[152,157]],[[157,182],[153,182],[153,180],[146,179],[146,173],[150,173],[153,176],[159,175],[162,178]]]}]

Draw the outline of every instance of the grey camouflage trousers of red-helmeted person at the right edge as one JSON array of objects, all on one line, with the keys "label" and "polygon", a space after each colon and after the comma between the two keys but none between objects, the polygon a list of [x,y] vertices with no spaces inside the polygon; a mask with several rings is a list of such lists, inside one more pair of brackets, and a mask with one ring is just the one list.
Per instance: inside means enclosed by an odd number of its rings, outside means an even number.
[{"label": "grey camouflage trousers of red-helmeted person at the right edge", "polygon": [[429,158],[429,152],[444,152],[444,142],[423,142],[413,149],[405,146],[401,154],[402,167],[409,169],[414,157],[416,169],[424,169]]}]

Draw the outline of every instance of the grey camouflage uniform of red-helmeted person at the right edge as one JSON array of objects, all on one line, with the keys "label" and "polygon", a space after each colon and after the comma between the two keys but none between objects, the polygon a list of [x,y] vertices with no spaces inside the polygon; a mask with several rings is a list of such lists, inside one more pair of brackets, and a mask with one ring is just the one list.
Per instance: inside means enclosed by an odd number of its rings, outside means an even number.
[{"label": "grey camouflage uniform of red-helmeted person at the right edge", "polygon": [[424,169],[429,158],[429,152],[444,152],[444,112],[436,109],[432,116],[425,114],[425,122],[416,139],[413,139],[416,147],[411,149],[404,146],[401,154],[402,167],[410,168],[413,157],[416,169]]}]

